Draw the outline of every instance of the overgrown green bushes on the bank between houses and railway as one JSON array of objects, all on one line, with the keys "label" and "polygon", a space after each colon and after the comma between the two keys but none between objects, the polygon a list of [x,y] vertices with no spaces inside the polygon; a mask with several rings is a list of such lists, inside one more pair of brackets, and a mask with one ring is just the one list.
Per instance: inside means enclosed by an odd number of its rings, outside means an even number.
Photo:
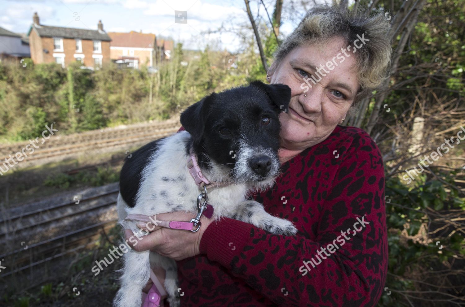
[{"label": "overgrown green bushes on the bank between houses and railway", "polygon": [[146,67],[119,69],[113,64],[92,71],[81,69],[79,63],[67,68],[54,63],[27,62],[26,67],[0,63],[0,107],[4,110],[0,137],[39,137],[45,124],[53,122],[60,133],[69,134],[166,119],[179,116],[180,109],[212,91],[247,81],[246,65],[237,71],[226,70],[221,52],[207,48],[191,55],[188,65],[181,65],[182,61],[186,59],[178,44],[173,59],[153,74]]}]

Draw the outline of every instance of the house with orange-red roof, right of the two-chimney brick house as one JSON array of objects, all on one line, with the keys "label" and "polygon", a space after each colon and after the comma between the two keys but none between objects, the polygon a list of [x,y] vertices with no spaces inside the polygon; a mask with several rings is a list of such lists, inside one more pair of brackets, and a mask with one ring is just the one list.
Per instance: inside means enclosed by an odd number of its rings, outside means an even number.
[{"label": "house with orange-red roof, right of the two-chimney brick house", "polygon": [[131,31],[129,33],[108,32],[110,59],[117,64],[139,68],[140,65],[153,67],[156,39],[155,34]]}]

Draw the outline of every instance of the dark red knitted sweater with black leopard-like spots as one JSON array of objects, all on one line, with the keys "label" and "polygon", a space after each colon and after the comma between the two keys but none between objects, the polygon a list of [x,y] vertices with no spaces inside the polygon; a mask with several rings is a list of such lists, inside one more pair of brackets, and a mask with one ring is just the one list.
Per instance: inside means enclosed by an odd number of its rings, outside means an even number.
[{"label": "dark red knitted sweater with black leopard-like spots", "polygon": [[377,145],[361,129],[337,126],[282,170],[253,198],[298,234],[272,235],[230,218],[210,224],[201,255],[178,261],[182,307],[376,305],[387,272]]}]

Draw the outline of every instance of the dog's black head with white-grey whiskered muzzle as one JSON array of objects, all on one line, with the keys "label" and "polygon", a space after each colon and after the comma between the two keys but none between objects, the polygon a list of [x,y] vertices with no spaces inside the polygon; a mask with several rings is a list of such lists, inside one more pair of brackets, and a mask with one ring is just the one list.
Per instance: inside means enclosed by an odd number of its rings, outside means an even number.
[{"label": "dog's black head with white-grey whiskered muzzle", "polygon": [[199,164],[211,181],[272,185],[279,174],[279,113],[287,111],[287,85],[249,86],[212,93],[181,114]]}]

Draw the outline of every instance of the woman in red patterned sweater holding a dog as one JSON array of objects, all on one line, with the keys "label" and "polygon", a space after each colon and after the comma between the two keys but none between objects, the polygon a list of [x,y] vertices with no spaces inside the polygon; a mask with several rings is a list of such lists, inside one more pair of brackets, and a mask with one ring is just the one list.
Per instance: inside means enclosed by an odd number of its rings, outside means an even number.
[{"label": "woman in red patterned sweater holding a dog", "polygon": [[283,172],[254,198],[298,235],[228,218],[203,218],[197,233],[158,228],[135,249],[178,261],[182,306],[376,305],[387,272],[383,161],[365,131],[338,124],[386,77],[388,32],[383,15],[318,7],[282,43],[267,81],[292,90],[280,115]]}]

